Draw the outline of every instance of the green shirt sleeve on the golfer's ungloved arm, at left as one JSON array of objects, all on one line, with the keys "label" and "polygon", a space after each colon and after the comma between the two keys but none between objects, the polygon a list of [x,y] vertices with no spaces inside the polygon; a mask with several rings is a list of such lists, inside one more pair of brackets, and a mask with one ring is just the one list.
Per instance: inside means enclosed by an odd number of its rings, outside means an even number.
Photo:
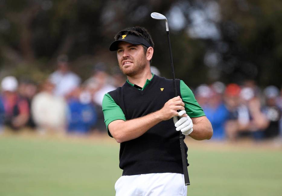
[{"label": "green shirt sleeve on the golfer's ungloved arm, at left", "polygon": [[108,129],[108,125],[115,120],[126,120],[120,106],[113,100],[109,93],[104,95],[102,101],[102,111],[104,113],[104,122],[107,127],[109,136],[113,137]]}]

